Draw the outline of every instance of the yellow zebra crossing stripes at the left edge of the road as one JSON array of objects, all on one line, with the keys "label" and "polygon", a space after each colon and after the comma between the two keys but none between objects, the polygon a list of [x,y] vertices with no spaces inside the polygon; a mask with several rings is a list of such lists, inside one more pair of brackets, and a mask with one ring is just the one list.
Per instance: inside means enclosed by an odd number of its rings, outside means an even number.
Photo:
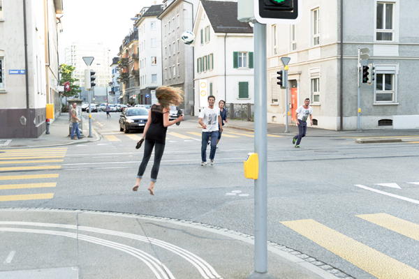
[{"label": "yellow zebra crossing stripes at the left edge of the road", "polygon": [[[52,199],[54,197],[54,193],[51,193],[52,189],[57,186],[57,182],[54,182],[54,180],[58,178],[59,174],[10,175],[10,172],[61,169],[61,165],[56,165],[56,163],[63,162],[66,151],[66,147],[1,149],[0,202]],[[34,183],[24,183],[27,180],[34,181]]]}]

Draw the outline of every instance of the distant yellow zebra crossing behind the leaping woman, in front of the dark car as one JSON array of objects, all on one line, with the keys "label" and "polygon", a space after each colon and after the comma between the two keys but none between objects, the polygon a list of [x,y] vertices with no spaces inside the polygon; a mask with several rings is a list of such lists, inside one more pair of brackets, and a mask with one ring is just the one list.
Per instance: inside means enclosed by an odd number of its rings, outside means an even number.
[{"label": "distant yellow zebra crossing behind the leaping woman, in front of the dark car", "polygon": [[[177,131],[177,132],[172,132],[170,130],[168,130],[168,132],[166,133],[166,140],[169,140],[170,142],[176,142],[179,140],[184,140],[185,142],[188,142],[190,140],[197,140],[197,141],[201,141],[201,136],[202,133],[198,133],[198,132],[184,132],[184,131]],[[267,135],[268,137],[282,137],[280,135]],[[126,138],[128,137],[128,139],[130,140],[135,140],[138,141],[141,139],[142,134],[140,135],[135,135],[135,134],[124,134],[124,133],[112,133],[112,135],[105,135],[103,134],[103,137],[105,140],[108,140],[109,142],[121,142],[122,140],[126,140]],[[253,132],[247,132],[247,131],[242,131],[242,130],[227,130],[224,129],[223,130],[223,140],[228,140],[228,139],[232,139],[232,138],[240,138],[240,137],[254,137],[254,133]]]}]

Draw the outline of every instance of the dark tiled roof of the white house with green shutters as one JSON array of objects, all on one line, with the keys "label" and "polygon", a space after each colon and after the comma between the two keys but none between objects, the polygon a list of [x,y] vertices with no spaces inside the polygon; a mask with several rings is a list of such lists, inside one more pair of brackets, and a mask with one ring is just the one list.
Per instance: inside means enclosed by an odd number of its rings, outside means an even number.
[{"label": "dark tiled roof of the white house with green shutters", "polygon": [[249,23],[237,20],[237,2],[201,0],[201,3],[215,33],[253,33]]}]

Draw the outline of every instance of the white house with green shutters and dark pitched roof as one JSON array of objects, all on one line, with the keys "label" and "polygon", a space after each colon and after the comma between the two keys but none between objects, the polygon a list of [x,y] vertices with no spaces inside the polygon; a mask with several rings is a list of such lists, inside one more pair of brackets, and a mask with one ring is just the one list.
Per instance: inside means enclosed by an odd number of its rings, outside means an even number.
[{"label": "white house with green shutters and dark pitched roof", "polygon": [[193,33],[195,115],[207,106],[200,102],[201,81],[216,104],[253,104],[253,28],[237,20],[237,3],[200,1]]}]

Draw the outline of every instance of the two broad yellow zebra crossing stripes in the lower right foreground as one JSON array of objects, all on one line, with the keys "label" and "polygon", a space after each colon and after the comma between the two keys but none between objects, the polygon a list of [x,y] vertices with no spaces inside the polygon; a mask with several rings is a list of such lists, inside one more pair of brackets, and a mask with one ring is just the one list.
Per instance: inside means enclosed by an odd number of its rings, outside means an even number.
[{"label": "two broad yellow zebra crossing stripes in the lower right foreground", "polygon": [[[387,213],[357,215],[360,221],[367,221],[392,232],[419,241],[419,225],[391,216]],[[378,279],[419,278],[419,271],[399,262],[384,252],[337,232],[316,220],[291,220],[281,224],[301,234],[319,246],[375,276]]]}]

